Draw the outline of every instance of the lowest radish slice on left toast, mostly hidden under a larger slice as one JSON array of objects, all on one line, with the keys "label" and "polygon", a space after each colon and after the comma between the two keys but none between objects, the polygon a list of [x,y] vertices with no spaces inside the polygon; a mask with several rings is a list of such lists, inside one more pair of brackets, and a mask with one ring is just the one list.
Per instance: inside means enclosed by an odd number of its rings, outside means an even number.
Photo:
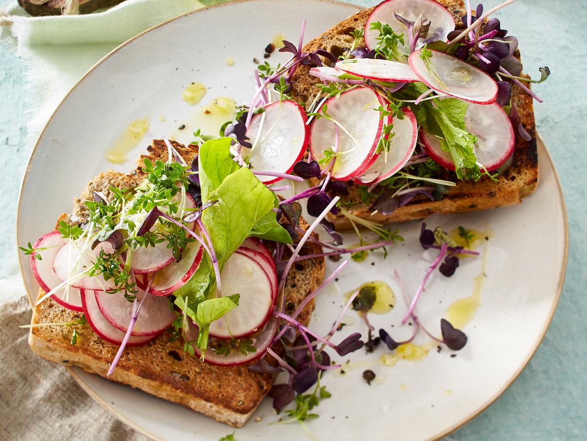
[{"label": "lowest radish slice on left toast, mostly hidden under a larger slice", "polygon": [[[239,307],[240,305],[233,309],[233,311],[236,311]],[[267,348],[271,346],[273,338],[277,332],[277,324],[278,319],[276,317],[271,317],[265,325],[265,328],[263,328],[258,335],[250,337],[252,340],[252,346],[254,346],[256,351],[248,352],[247,355],[243,355],[241,351],[231,351],[228,355],[218,355],[216,352],[212,351],[210,345],[208,345],[208,349],[204,352],[204,361],[217,366],[236,366],[261,358],[267,353]],[[190,340],[198,339],[197,327],[192,326],[191,323],[187,336]],[[196,355],[198,357],[201,356],[201,352],[198,348],[194,346],[194,349]]]}]

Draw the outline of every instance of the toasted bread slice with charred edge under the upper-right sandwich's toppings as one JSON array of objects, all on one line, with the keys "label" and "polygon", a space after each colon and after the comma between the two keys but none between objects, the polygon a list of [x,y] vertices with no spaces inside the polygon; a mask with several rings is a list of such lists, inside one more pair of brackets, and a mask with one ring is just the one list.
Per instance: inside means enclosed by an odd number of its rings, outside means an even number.
[{"label": "toasted bread slice with charred edge under the upper-right sandwich's toppings", "polygon": [[[448,11],[453,14],[455,22],[458,23],[457,28],[462,28],[461,16],[465,14],[463,2],[461,0],[437,1],[446,6]],[[336,56],[348,51],[354,40],[350,32],[355,29],[363,29],[373,9],[363,9],[363,11],[343,20],[318,38],[308,42],[303,47],[303,51],[312,52],[322,48],[327,49]],[[309,75],[308,66],[299,65],[292,78],[292,96],[298,102],[311,102],[319,91],[318,87],[316,87],[318,82],[317,78]],[[514,100],[518,108],[524,128],[532,139],[525,141],[516,131],[512,166],[499,177],[497,182],[488,177],[483,177],[478,182],[459,181],[454,173],[443,169],[437,178],[454,181],[457,186],[450,187],[448,194],[442,200],[430,201],[425,196],[416,196],[406,206],[398,207],[389,216],[383,216],[380,213],[371,216],[373,212],[370,209],[371,203],[363,203],[357,191],[357,185],[349,183],[349,196],[343,199],[346,202],[354,203],[348,208],[350,213],[375,223],[385,224],[421,219],[434,213],[463,213],[465,211],[487,210],[488,208],[520,203],[522,198],[528,196],[538,184],[536,127],[532,97],[514,85],[512,87],[512,100]],[[335,223],[337,230],[348,230],[352,227],[349,218],[342,214],[337,216],[329,214],[329,220]]]}]

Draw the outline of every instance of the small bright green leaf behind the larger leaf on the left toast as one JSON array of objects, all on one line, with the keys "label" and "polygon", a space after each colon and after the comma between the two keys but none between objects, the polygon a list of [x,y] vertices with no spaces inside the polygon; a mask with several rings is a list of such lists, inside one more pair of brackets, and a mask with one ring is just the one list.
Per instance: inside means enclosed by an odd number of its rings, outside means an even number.
[{"label": "small bright green leaf behind the larger leaf on the left toast", "polygon": [[230,140],[224,137],[206,141],[198,151],[198,173],[204,203],[211,200],[211,191],[220,187],[229,174],[240,168],[230,155]]}]

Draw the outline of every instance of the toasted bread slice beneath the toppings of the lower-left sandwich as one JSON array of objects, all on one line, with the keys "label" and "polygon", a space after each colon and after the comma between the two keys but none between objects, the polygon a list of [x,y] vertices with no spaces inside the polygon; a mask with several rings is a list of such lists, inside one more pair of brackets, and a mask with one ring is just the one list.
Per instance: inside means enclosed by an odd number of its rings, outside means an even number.
[{"label": "toasted bread slice beneath the toppings of the lower-left sandwich", "polygon": [[[197,150],[174,143],[186,161],[193,159]],[[151,160],[167,159],[167,148],[161,141],[149,147]],[[73,219],[80,223],[86,213],[83,201],[92,197],[93,191],[102,191],[108,196],[109,187],[134,187],[144,177],[143,171],[134,170],[129,175],[102,173],[89,183],[81,198],[74,201]],[[77,217],[76,217],[77,216]],[[62,216],[62,220],[70,219]],[[301,220],[301,227],[307,228]],[[321,248],[307,247],[306,253],[318,253]],[[323,258],[298,262],[289,272],[285,284],[286,311],[295,308],[322,282],[325,271]],[[39,298],[43,291],[39,292]],[[307,324],[313,309],[313,301],[304,308],[299,321]],[[34,308],[33,325],[40,323],[70,322],[80,318],[81,313],[69,311],[53,299],[46,299]],[[70,343],[71,330],[65,326],[33,327],[29,334],[29,345],[33,351],[49,361],[66,366],[79,366],[90,373],[106,376],[110,362],[118,346],[104,341],[89,325],[80,329],[77,343]],[[177,340],[169,342],[164,332],[154,341],[133,348],[126,348],[110,379],[139,388],[160,398],[187,406],[231,426],[241,427],[247,422],[271,387],[273,375],[254,373],[242,366],[213,366],[190,357],[183,352],[183,344]]]}]

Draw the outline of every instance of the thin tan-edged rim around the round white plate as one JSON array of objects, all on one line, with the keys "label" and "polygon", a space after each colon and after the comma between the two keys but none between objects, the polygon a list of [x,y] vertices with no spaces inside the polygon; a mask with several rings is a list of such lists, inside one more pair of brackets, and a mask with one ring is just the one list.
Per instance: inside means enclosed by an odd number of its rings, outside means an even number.
[{"label": "thin tan-edged rim around the round white plate", "polygon": [[[51,114],[51,116],[49,117],[47,122],[45,123],[45,126],[43,126],[43,129],[41,130],[41,133],[39,133],[39,136],[37,137],[37,139],[35,141],[35,145],[33,146],[33,149],[31,150],[31,154],[29,156],[29,159],[26,163],[25,174],[22,177],[21,186],[20,186],[19,194],[18,194],[18,203],[16,205],[16,235],[15,235],[15,238],[16,238],[16,247],[17,248],[18,248],[18,245],[20,244],[18,225],[19,225],[19,220],[21,218],[22,191],[23,191],[23,187],[25,186],[26,180],[28,179],[28,176],[29,176],[29,168],[31,165],[31,161],[33,159],[33,156],[35,156],[35,153],[38,150],[39,143],[41,142],[41,140],[46,132],[47,127],[52,122],[53,117],[55,117],[56,113],[65,104],[66,100],[68,100],[68,98],[71,95],[71,93],[73,92],[73,90],[75,90],[77,88],[77,86],[79,86],[80,83],[82,83],[83,80],[85,80],[87,78],[87,76],[90,75],[90,73],[92,73],[95,69],[97,69],[98,66],[100,66],[104,62],[104,60],[106,60],[107,58],[110,58],[110,56],[112,56],[114,53],[118,52],[124,46],[126,46],[129,43],[133,42],[134,40],[140,38],[141,36],[143,36],[147,32],[153,31],[154,29],[157,29],[157,28],[160,28],[161,26],[167,25],[167,23],[170,23],[174,20],[183,18],[184,16],[191,15],[191,14],[197,14],[198,12],[204,11],[207,9],[222,8],[225,6],[230,6],[232,4],[242,4],[242,3],[257,2],[257,1],[259,1],[259,0],[232,0],[232,1],[229,0],[229,1],[221,3],[221,4],[204,6],[204,8],[194,9],[193,11],[185,12],[184,14],[178,15],[176,17],[173,17],[173,18],[167,19],[166,21],[158,23],[157,25],[151,26],[151,28],[145,29],[144,31],[138,33],[137,35],[133,36],[132,38],[128,39],[127,41],[121,43],[116,48],[112,49],[112,51],[108,52],[106,55],[104,55],[102,58],[100,58],[90,69],[87,70],[86,73],[84,73],[84,75],[79,80],[77,80],[75,85],[72,86],[72,88],[69,90],[69,92],[66,93],[66,95],[63,97],[63,99],[59,102],[59,105],[55,108],[55,110],[53,111],[53,113]],[[286,0],[282,0],[282,1],[286,1]],[[360,11],[362,9],[366,9],[363,6],[359,6],[359,5],[352,4],[350,2],[343,2],[343,1],[339,1],[339,0],[312,0],[312,1],[322,2],[322,3],[330,3],[333,5],[352,6],[353,8],[356,8],[357,11]],[[518,367],[517,371],[514,372],[514,374],[511,376],[511,378],[508,379],[508,381],[505,383],[505,385],[500,390],[495,392],[495,394],[493,396],[491,396],[491,398],[488,399],[485,403],[483,403],[483,405],[479,406],[477,409],[474,409],[473,412],[469,413],[467,416],[465,416],[459,422],[454,423],[454,425],[443,430],[443,432],[437,433],[436,435],[430,437],[428,439],[429,441],[436,441],[436,440],[441,439],[447,435],[450,435],[453,432],[456,432],[456,430],[460,429],[461,427],[463,427],[467,423],[471,422],[471,420],[477,418],[478,415],[480,415],[487,408],[489,408],[498,398],[500,398],[504,394],[504,392],[507,389],[510,388],[510,386],[518,379],[518,377],[522,373],[522,371],[524,371],[526,366],[528,366],[528,363],[530,362],[532,357],[536,354],[538,347],[541,345],[542,341],[544,340],[544,336],[546,335],[546,332],[548,331],[548,329],[552,323],[552,318],[554,317],[556,308],[558,307],[558,303],[561,299],[562,287],[563,287],[564,281],[565,281],[566,268],[567,268],[567,263],[568,263],[568,254],[569,254],[569,224],[568,224],[568,215],[567,215],[567,211],[566,211],[566,202],[565,202],[564,193],[562,191],[561,181],[558,176],[558,171],[556,170],[554,161],[552,160],[552,156],[551,156],[550,152],[548,151],[548,148],[546,147],[546,143],[544,142],[544,139],[542,138],[542,136],[538,132],[538,130],[536,131],[536,139],[537,139],[537,143],[542,144],[542,146],[544,147],[544,152],[546,153],[546,159],[548,160],[549,165],[552,166],[552,170],[554,171],[556,190],[559,195],[559,201],[561,204],[561,210],[562,210],[563,221],[564,221],[564,249],[563,249],[563,255],[562,255],[561,271],[559,272],[558,286],[556,287],[556,298],[555,298],[554,304],[552,305],[551,311],[549,311],[548,318],[546,319],[545,324],[544,324],[544,328],[542,329],[542,332],[539,335],[534,346],[532,346],[531,351],[529,352],[527,358],[524,359],[524,361]],[[26,287],[26,281],[25,281],[24,270],[22,267],[21,259],[18,260],[18,265],[19,265],[19,270],[21,273],[21,278],[22,278],[23,284],[25,284],[25,287]],[[29,305],[31,306],[31,309],[34,309],[34,305],[32,303],[31,295],[30,295],[28,289],[26,291],[26,298],[28,299],[28,302],[29,302]],[[66,366],[66,369],[69,372],[69,374],[72,376],[72,378],[77,382],[77,384],[89,396],[91,396],[97,403],[99,403],[99,405],[101,405],[104,409],[106,409],[112,415],[116,416],[117,419],[121,420],[126,425],[132,427],[134,430],[137,430],[137,432],[149,437],[150,439],[154,439],[157,441],[166,441],[163,438],[158,437],[158,436],[154,435],[153,433],[149,432],[148,430],[144,429],[143,427],[141,427],[137,423],[133,422],[133,420],[126,418],[126,416],[122,415],[122,413],[118,412],[118,410],[114,409],[112,405],[109,405],[109,403],[107,403],[105,400],[103,400],[102,397],[100,395],[98,395],[98,393],[95,390],[90,388],[90,386],[85,381],[83,381],[83,379],[78,375],[78,373],[76,372],[76,370],[73,367]]]}]

